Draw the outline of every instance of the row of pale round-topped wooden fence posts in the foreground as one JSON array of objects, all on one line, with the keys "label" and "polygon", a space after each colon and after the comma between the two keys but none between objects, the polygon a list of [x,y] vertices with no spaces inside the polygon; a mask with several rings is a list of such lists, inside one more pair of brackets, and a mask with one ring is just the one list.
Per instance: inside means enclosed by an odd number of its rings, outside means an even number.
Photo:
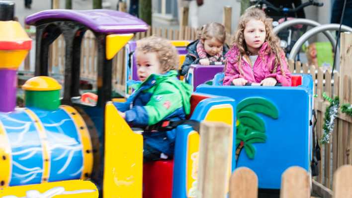
[{"label": "row of pale round-topped wooden fence posts in the foreground", "polygon": [[[258,198],[258,177],[247,167],[237,168],[231,175],[229,145],[231,127],[222,122],[200,124],[200,150],[197,198]],[[318,184],[319,185],[319,184]],[[313,181],[313,194],[317,183]],[[228,187],[228,188],[227,188]],[[317,192],[323,198],[352,198],[352,166],[334,171],[333,191]],[[262,195],[265,196],[265,195]],[[271,197],[272,195],[267,195]],[[311,178],[301,167],[289,167],[281,177],[280,198],[310,198]]]}]

